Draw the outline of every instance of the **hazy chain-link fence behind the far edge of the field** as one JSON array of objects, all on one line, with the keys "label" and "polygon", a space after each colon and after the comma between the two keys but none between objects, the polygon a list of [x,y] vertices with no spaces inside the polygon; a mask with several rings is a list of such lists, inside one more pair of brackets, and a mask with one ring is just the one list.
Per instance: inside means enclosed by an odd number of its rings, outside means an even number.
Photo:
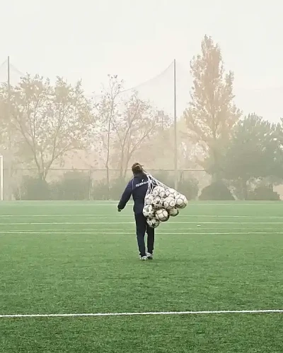
[{"label": "hazy chain-link fence behind the far edge of the field", "polygon": [[[156,179],[174,186],[174,170],[149,170]],[[131,179],[131,170],[118,169],[50,169],[45,181],[37,169],[13,169],[8,178],[4,169],[4,199],[8,200],[8,184],[12,200],[117,200]],[[9,183],[8,183],[9,181]],[[188,198],[196,198],[210,184],[204,170],[179,170],[178,189]]]}]

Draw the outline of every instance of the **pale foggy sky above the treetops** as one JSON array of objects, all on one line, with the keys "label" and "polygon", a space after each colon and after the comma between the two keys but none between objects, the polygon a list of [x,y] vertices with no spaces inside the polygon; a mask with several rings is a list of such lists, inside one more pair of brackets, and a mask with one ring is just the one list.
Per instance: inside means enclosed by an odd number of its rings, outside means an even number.
[{"label": "pale foggy sky above the treetops", "polygon": [[0,64],[10,55],[23,73],[83,78],[91,94],[108,73],[129,88],[177,59],[182,87],[202,37],[212,35],[235,73],[238,106],[275,121],[283,116],[282,13],[275,0],[1,1]]}]

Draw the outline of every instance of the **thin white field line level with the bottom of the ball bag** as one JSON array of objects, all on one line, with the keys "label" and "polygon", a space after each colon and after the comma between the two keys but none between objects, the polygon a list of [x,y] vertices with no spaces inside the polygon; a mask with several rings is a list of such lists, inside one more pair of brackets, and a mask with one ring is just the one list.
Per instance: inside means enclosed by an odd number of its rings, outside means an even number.
[{"label": "thin white field line level with the bottom of the ball bag", "polygon": [[[1,225],[133,225],[134,222],[1,222]],[[166,223],[165,223],[166,224]],[[283,225],[283,222],[171,222],[171,225]]]}]

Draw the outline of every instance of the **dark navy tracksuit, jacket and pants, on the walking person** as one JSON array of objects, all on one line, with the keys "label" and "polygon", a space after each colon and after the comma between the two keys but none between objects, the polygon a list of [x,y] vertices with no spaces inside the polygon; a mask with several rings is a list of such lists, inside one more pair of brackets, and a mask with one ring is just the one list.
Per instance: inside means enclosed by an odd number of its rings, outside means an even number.
[{"label": "dark navy tracksuit, jacket and pants, on the walking person", "polygon": [[124,193],[122,194],[118,208],[122,210],[127,205],[129,198],[134,200],[134,218],[136,220],[137,244],[139,246],[139,255],[146,256],[146,246],[144,244],[144,235],[147,233],[147,250],[149,253],[154,251],[154,229],[146,223],[146,217],[142,213],[144,209],[144,198],[148,188],[148,180],[145,174],[137,174],[129,181]]}]

